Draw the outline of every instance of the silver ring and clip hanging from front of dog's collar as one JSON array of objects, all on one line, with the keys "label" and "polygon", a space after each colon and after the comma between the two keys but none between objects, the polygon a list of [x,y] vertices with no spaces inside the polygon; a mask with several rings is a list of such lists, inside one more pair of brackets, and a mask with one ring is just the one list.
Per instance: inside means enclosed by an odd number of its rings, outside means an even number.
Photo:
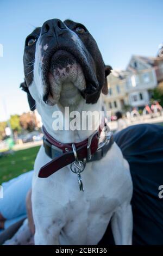
[{"label": "silver ring and clip hanging from front of dog's collar", "polygon": [[84,191],[82,176],[80,175],[80,173],[82,173],[84,168],[85,168],[86,160],[85,159],[83,161],[78,160],[76,146],[75,146],[74,143],[72,144],[72,150],[73,150],[75,161],[71,164],[71,171],[78,175],[78,182],[79,182],[80,191]]}]

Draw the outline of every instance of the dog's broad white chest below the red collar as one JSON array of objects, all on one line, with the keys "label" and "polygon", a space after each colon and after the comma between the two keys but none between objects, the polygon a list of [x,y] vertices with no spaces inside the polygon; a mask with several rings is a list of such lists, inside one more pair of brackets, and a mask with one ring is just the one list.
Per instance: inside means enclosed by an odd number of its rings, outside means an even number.
[{"label": "dog's broad white chest below the red collar", "polygon": [[[120,149],[114,144],[101,161],[86,164],[82,173],[84,192],[79,190],[77,175],[69,166],[47,179],[37,178],[39,168],[48,161],[42,147],[35,162],[33,180],[37,243],[97,244],[111,216],[122,202],[130,202],[132,194],[128,164]],[[39,229],[45,237],[40,237]],[[53,241],[54,234],[57,242]]]}]

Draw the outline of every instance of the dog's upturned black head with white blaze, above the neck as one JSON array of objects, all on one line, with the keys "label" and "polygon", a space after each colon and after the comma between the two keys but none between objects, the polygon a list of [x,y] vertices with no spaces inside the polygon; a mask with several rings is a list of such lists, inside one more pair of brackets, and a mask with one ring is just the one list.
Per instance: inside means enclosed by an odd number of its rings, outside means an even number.
[{"label": "dog's upturned black head with white blaze, above the neck", "polygon": [[30,92],[31,106],[38,98],[54,105],[64,99],[66,88],[72,90],[72,84],[74,94],[78,92],[86,103],[96,103],[101,90],[108,93],[106,76],[111,67],[105,67],[95,39],[80,23],[58,19],[43,23],[27,36],[23,63],[21,87]]}]

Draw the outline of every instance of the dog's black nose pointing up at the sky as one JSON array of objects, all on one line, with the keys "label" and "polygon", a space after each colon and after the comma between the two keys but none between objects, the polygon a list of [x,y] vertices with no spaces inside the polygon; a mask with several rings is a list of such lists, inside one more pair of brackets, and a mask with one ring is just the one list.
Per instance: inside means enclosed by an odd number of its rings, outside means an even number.
[{"label": "dog's black nose pointing up at the sky", "polygon": [[64,24],[64,22],[62,22],[59,19],[48,20],[45,23],[43,23],[43,26],[41,28],[41,35],[45,33],[53,34],[54,32],[57,35],[60,35],[65,31],[66,28],[67,27]]}]

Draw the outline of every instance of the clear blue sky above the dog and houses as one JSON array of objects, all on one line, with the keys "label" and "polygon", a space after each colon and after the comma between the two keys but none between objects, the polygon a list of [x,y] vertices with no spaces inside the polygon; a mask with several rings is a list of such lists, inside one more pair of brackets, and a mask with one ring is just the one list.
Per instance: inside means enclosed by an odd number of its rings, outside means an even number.
[{"label": "clear blue sky above the dog and houses", "polygon": [[48,19],[84,23],[96,39],[105,64],[125,69],[132,54],[155,56],[163,41],[162,0],[1,0],[0,1],[0,121],[28,111],[23,81],[26,36]]}]

